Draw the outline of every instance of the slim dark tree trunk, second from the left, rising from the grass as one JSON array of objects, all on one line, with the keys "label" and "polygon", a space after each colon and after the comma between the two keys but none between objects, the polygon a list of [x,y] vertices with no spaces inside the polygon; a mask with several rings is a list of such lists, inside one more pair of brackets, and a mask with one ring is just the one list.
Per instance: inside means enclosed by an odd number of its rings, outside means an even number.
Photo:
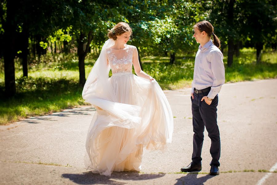
[{"label": "slim dark tree trunk, second from the left, rising from the grass", "polygon": [[23,26],[22,29],[22,36],[23,36],[23,48],[22,48],[22,69],[23,69],[23,76],[28,77],[28,47],[29,47],[29,30],[27,26]]}]

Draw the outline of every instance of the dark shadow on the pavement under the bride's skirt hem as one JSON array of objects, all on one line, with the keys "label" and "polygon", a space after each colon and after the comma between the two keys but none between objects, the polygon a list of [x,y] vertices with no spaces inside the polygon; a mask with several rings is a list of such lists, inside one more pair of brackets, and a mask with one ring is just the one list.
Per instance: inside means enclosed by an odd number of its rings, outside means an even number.
[{"label": "dark shadow on the pavement under the bride's skirt hem", "polygon": [[113,172],[110,177],[94,174],[91,171],[83,174],[62,174],[63,178],[68,178],[77,184],[116,184],[123,185],[126,182],[116,180],[148,180],[163,177],[165,174],[140,174],[138,172]]}]

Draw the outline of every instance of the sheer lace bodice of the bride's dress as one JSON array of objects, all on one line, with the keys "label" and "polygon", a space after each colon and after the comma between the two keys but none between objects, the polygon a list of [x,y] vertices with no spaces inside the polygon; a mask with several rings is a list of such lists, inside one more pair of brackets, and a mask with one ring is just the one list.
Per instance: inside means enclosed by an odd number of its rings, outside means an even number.
[{"label": "sheer lace bodice of the bride's dress", "polygon": [[107,58],[113,74],[120,72],[132,72],[133,51],[135,48],[135,46],[127,45],[123,49],[107,49]]}]

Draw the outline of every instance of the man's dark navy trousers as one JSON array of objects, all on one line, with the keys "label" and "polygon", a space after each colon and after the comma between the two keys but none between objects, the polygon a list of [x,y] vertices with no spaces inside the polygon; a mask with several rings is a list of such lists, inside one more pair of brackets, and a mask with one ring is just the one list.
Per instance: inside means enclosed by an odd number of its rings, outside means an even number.
[{"label": "man's dark navy trousers", "polygon": [[191,109],[192,109],[192,125],[193,125],[193,153],[192,161],[200,163],[201,151],[204,140],[204,128],[206,127],[208,136],[211,138],[210,153],[212,161],[210,165],[219,166],[220,158],[220,137],[219,129],[217,125],[217,105],[218,94],[212,100],[211,105],[208,105],[205,100],[201,101],[203,96],[207,96],[209,93],[194,93],[194,99],[191,97]]}]

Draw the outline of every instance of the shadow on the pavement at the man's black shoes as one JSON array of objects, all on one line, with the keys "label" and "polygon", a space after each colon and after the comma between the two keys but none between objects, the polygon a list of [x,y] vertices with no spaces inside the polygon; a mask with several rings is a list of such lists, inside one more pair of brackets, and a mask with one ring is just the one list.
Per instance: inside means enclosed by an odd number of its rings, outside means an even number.
[{"label": "shadow on the pavement at the man's black shoes", "polygon": [[183,176],[177,180],[177,183],[175,185],[179,184],[204,184],[208,179],[211,179],[215,177],[214,175],[205,175],[203,177],[197,178],[197,175],[199,174],[187,174],[186,176]]}]

